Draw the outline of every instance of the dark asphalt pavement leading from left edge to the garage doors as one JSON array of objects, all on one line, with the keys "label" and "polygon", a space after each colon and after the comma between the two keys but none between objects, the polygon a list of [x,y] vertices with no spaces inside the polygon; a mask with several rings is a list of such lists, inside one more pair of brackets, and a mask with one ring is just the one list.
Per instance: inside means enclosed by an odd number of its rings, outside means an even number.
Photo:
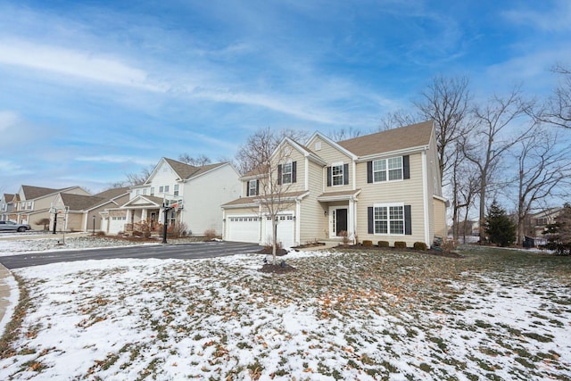
[{"label": "dark asphalt pavement leading from left edge to the garage doors", "polygon": [[8,269],[20,269],[57,262],[109,260],[118,258],[195,260],[224,257],[241,253],[256,253],[260,249],[261,246],[257,244],[247,244],[242,242],[153,244],[78,251],[19,254],[0,257],[0,263]]}]

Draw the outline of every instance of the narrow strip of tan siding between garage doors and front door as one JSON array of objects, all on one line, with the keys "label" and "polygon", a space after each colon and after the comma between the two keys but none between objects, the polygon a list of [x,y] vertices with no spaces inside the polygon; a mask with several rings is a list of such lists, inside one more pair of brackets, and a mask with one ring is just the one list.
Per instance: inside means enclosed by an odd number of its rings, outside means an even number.
[{"label": "narrow strip of tan siding between garage doors and front door", "polygon": [[[309,161],[308,161],[309,162]],[[309,162],[310,195],[303,198],[300,205],[300,244],[305,244],[314,239],[326,237],[327,216],[323,215],[323,208],[317,197],[322,188],[322,167],[315,162]]]}]

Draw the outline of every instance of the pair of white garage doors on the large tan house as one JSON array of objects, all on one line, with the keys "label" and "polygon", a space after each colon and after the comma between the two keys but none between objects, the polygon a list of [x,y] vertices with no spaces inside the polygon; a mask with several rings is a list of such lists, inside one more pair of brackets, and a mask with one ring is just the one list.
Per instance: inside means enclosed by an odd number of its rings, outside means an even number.
[{"label": "pair of white garage doors on the large tan house", "polygon": [[[269,244],[271,242],[271,219],[269,217],[227,216],[228,241]],[[294,246],[294,214],[277,216],[277,241],[284,247]]]}]

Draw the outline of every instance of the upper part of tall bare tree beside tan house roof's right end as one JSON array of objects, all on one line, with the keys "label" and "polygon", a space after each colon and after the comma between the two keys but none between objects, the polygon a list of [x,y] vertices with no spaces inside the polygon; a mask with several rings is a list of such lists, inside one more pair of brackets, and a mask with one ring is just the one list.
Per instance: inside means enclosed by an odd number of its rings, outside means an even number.
[{"label": "upper part of tall bare tree beside tan house roof's right end", "polygon": [[440,161],[440,177],[453,165],[454,142],[468,129],[465,122],[470,111],[471,96],[468,77],[437,76],[420,92],[421,99],[414,102],[422,120],[434,120],[436,145]]}]

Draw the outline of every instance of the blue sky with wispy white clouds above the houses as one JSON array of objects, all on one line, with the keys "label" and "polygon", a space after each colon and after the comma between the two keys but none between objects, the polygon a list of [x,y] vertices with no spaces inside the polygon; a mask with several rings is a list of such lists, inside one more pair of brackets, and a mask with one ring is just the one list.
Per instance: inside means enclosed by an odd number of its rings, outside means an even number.
[{"label": "blue sky with wispy white clouds above the houses", "polygon": [[549,95],[571,2],[0,0],[0,190],[232,158],[258,128],[375,130],[435,75]]}]

